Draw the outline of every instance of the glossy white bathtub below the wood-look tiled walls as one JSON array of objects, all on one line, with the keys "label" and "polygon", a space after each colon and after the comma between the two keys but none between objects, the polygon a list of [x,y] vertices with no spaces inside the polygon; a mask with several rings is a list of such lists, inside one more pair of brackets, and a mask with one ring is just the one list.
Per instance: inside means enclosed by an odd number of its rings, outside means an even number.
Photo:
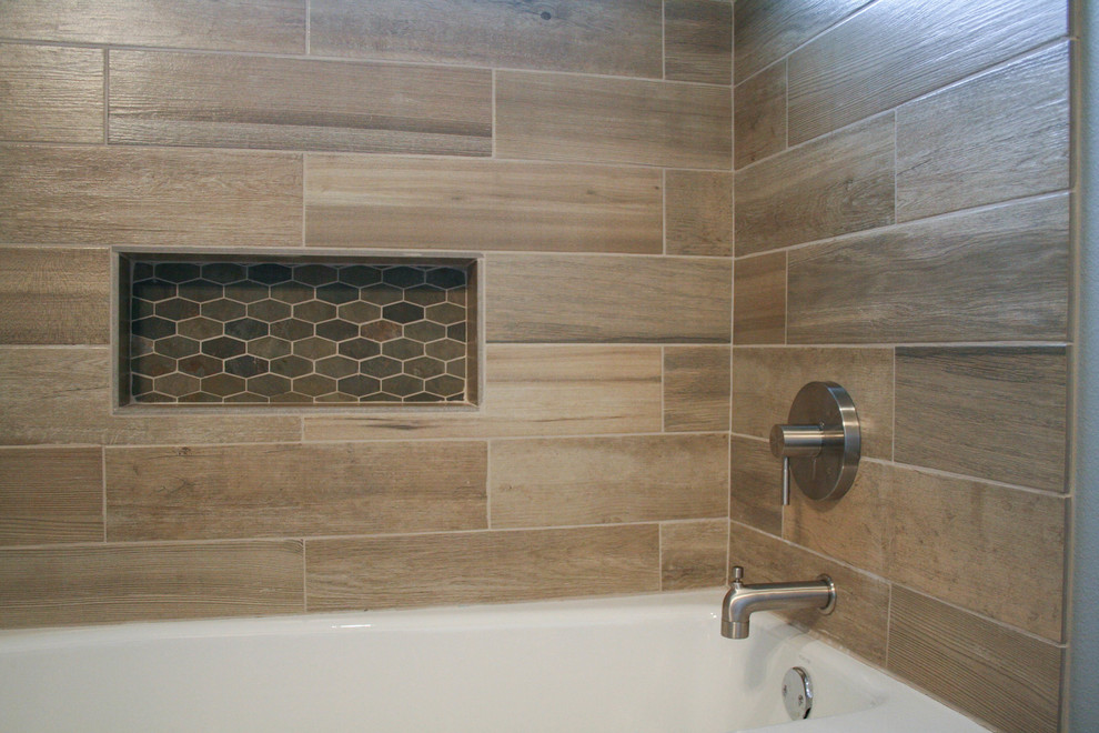
[{"label": "glossy white bathtub below the wood-look tiled walls", "polygon": [[[717,591],[0,634],[0,731],[984,731]],[[816,686],[789,722],[783,675]]]}]

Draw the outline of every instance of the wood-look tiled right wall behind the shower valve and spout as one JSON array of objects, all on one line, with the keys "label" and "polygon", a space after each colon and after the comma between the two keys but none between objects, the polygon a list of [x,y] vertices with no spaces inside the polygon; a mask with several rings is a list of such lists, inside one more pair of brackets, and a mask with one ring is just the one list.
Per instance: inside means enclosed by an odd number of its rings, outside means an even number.
[{"label": "wood-look tiled right wall behind the shower valve and spout", "polygon": [[[734,3],[730,562],[844,572],[795,620],[1004,731],[1059,729],[1067,647],[1069,11]],[[767,431],[810,380],[863,464],[783,510]]]}]

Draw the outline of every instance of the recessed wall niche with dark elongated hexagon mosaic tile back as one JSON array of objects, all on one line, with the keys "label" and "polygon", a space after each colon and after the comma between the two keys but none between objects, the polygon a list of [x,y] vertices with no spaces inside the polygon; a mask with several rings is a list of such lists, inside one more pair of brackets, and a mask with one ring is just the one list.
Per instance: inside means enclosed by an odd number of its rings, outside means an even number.
[{"label": "recessed wall niche with dark elongated hexagon mosaic tile back", "polygon": [[477,403],[477,260],[118,252],[119,405]]}]

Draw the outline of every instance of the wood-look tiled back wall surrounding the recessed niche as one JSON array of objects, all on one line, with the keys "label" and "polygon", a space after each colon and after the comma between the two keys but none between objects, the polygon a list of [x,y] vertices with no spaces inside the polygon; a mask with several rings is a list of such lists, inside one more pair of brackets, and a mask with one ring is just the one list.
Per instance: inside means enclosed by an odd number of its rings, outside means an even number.
[{"label": "wood-look tiled back wall surrounding the recessed niche", "polygon": [[[724,583],[732,16],[0,3],[0,626]],[[115,245],[484,253],[483,403],[113,410]]]}]

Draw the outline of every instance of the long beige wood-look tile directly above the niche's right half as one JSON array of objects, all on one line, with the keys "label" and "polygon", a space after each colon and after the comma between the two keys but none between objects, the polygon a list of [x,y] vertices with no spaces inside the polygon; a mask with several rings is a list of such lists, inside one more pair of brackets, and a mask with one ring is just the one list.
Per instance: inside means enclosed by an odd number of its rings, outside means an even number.
[{"label": "long beige wood-look tile directly above the niche's right half", "polygon": [[567,163],[305,160],[305,243],[659,254],[659,171]]}]

